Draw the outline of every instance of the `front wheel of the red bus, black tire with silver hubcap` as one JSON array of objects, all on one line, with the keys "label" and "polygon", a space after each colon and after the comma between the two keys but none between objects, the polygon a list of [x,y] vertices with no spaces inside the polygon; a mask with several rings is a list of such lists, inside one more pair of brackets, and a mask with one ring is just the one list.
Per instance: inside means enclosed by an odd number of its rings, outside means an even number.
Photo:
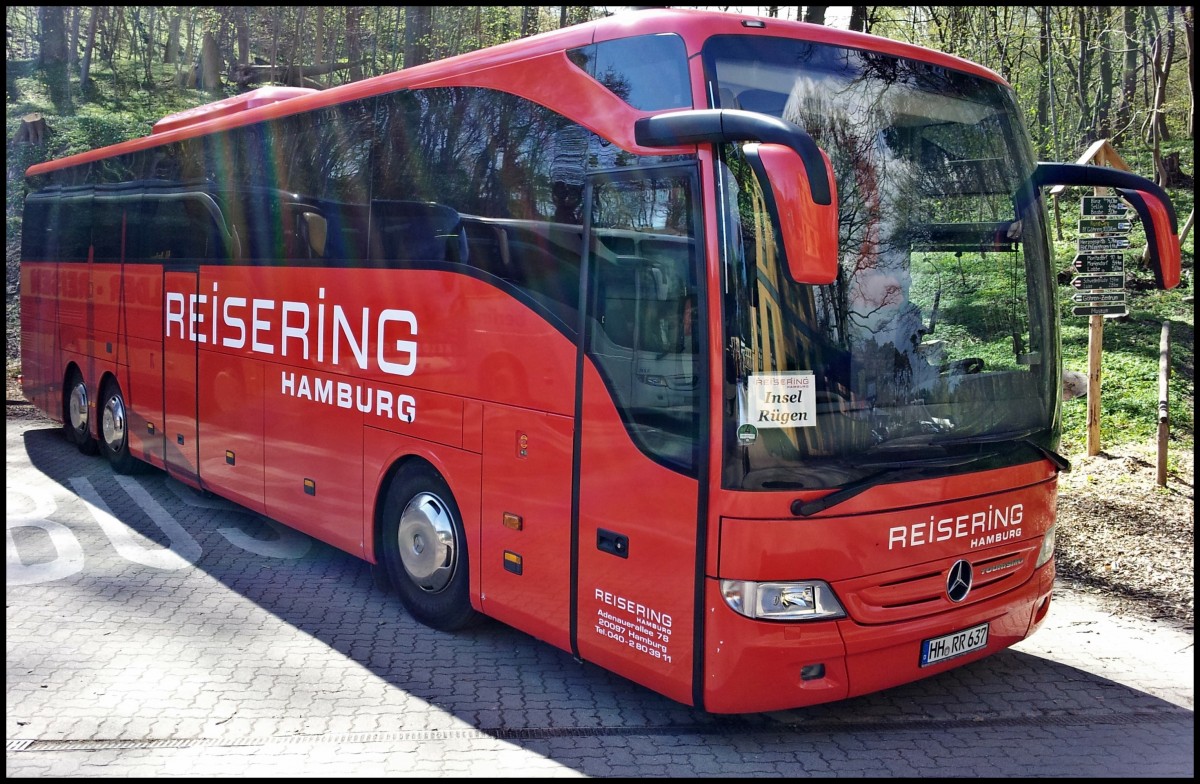
[{"label": "front wheel of the red bus, black tire with silver hubcap", "polygon": [[388,489],[383,562],[400,600],[420,623],[442,632],[470,626],[467,537],[445,479],[427,463],[401,468]]}]

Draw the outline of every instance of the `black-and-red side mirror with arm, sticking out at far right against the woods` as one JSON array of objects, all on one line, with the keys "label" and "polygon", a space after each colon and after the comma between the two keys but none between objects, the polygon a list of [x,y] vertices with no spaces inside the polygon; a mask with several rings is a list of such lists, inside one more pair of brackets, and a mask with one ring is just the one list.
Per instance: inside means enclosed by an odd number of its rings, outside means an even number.
[{"label": "black-and-red side mirror with arm, sticking out at far right against the woods", "polygon": [[1114,188],[1141,219],[1154,282],[1159,288],[1175,288],[1180,285],[1180,226],[1175,217],[1175,205],[1166,191],[1153,181],[1108,166],[1038,163],[1033,172],[1033,185]]}]

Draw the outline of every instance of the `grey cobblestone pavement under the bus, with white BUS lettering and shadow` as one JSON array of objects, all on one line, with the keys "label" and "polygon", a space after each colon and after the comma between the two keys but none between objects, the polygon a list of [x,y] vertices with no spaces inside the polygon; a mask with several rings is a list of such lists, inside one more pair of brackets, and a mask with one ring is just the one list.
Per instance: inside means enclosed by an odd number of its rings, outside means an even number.
[{"label": "grey cobblestone pavement under the bus, with white BUS lettering and shadow", "polygon": [[802,711],[694,711],[368,567],[6,425],[8,777],[1193,777],[1193,630],[1060,585],[984,662]]}]

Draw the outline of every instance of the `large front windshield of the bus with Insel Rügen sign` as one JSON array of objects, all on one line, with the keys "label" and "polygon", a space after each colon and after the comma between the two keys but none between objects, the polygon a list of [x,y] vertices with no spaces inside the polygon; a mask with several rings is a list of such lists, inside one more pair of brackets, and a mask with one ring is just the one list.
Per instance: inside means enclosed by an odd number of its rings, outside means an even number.
[{"label": "large front windshield of the bus with Insel R\u00fcgen sign", "polygon": [[796,283],[788,216],[742,146],[721,148],[724,485],[835,487],[1054,450],[1055,286],[1042,204],[1018,198],[1036,162],[1012,90],[809,41],[718,36],[704,58],[714,107],[804,128],[839,203],[836,280]]}]

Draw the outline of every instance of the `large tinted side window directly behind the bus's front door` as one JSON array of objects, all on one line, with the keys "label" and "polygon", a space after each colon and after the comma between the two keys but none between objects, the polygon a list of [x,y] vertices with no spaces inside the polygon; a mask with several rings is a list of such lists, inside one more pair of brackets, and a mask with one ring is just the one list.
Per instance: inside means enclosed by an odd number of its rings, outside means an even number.
[{"label": "large tinted side window directly behind the bus's front door", "polygon": [[574,328],[593,134],[524,98],[474,88],[383,96],[377,127],[372,257],[470,265]]}]

